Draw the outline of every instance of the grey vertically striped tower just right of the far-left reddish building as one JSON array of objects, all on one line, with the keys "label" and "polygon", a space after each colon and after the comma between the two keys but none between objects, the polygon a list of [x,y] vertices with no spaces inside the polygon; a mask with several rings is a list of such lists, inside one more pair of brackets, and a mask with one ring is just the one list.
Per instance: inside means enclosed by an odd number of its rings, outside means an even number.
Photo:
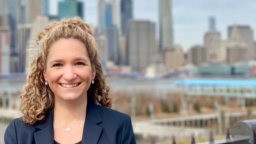
[{"label": "grey vertically striped tower just right of the far-left reddish building", "polygon": [[31,24],[18,24],[17,26],[17,43],[18,49],[18,72],[25,72],[26,68],[26,47],[29,41]]}]

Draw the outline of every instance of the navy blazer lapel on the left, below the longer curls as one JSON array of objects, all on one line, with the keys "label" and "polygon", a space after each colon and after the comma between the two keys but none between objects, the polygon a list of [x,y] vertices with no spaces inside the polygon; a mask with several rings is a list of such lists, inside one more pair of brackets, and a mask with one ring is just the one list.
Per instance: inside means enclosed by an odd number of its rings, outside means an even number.
[{"label": "navy blazer lapel on the left, below the longer curls", "polygon": [[36,144],[53,144],[53,119],[52,111],[46,115],[46,120],[37,124],[39,130],[34,133]]}]

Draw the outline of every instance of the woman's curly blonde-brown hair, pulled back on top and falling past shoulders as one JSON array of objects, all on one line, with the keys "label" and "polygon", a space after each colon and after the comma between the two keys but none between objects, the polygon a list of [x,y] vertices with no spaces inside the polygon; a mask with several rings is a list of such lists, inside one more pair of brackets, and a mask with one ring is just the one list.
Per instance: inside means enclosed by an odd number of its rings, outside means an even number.
[{"label": "woman's curly blonde-brown hair, pulled back on top and falling past shoulders", "polygon": [[97,105],[111,107],[108,97],[109,87],[106,86],[101,64],[98,61],[95,42],[90,26],[79,17],[62,19],[45,27],[38,33],[38,42],[42,42],[42,52],[31,64],[31,71],[27,76],[27,84],[20,96],[20,110],[24,114],[22,121],[33,125],[46,118],[46,112],[54,108],[54,93],[45,85],[43,71],[46,69],[46,60],[50,46],[61,38],[75,38],[84,43],[89,54],[92,67],[96,75],[94,84],[87,91],[87,98]]}]

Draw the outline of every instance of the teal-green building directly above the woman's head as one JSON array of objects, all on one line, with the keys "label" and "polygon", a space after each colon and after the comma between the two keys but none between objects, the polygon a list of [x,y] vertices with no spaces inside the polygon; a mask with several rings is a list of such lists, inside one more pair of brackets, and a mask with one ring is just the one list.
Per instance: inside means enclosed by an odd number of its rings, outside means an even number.
[{"label": "teal-green building directly above the woman's head", "polygon": [[77,0],[65,0],[59,2],[59,19],[70,18],[74,16],[83,17],[83,2]]}]

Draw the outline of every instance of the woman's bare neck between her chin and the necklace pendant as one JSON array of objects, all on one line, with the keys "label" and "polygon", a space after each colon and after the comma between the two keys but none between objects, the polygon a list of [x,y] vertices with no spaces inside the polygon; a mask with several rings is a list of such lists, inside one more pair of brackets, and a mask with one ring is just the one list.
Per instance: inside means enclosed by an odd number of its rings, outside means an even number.
[{"label": "woman's bare neck between her chin and the necklace pendant", "polygon": [[85,117],[86,107],[87,96],[80,97],[74,101],[65,101],[60,98],[55,98],[54,117],[60,119],[64,124],[69,124],[81,117]]}]

